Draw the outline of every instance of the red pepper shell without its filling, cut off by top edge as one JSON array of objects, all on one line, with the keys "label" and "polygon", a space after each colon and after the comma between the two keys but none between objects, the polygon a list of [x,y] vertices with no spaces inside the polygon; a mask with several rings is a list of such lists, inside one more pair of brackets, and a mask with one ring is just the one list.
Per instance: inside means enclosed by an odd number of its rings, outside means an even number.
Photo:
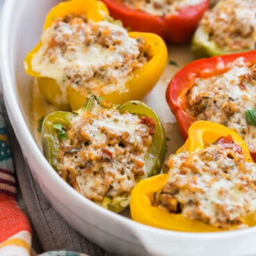
[{"label": "red pepper shell without its filling, cut off by top edge", "polygon": [[102,0],[109,8],[111,16],[122,20],[132,31],[156,33],[168,42],[182,44],[189,42],[202,15],[209,8],[209,0],[202,0],[195,6],[182,8],[170,16],[156,16],[141,10],[134,10],[120,0]]}]

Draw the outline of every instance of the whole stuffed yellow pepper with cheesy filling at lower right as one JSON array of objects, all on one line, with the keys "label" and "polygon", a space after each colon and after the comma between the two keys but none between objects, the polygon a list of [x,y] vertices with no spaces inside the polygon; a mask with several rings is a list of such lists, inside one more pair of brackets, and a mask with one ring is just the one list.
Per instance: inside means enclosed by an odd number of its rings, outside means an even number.
[{"label": "whole stuffed yellow pepper with cheesy filling at lower right", "polygon": [[183,232],[256,225],[256,163],[236,132],[214,122],[193,123],[167,168],[134,187],[135,221]]}]

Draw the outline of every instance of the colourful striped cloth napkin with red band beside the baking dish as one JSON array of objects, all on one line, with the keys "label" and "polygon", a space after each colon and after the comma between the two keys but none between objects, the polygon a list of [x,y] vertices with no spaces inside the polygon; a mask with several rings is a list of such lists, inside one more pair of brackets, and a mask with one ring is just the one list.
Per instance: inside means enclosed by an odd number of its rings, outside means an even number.
[{"label": "colourful striped cloth napkin with red band beside the baking dish", "polygon": [[[15,169],[0,106],[0,256],[35,256],[31,249],[31,227],[16,202]],[[88,256],[56,251],[40,256]]]}]

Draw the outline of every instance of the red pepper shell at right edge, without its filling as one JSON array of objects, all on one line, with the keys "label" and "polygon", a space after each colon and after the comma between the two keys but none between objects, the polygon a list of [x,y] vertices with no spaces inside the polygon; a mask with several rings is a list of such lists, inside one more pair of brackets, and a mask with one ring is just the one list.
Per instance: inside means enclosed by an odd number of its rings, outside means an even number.
[{"label": "red pepper shell at right edge, without its filling", "polygon": [[[166,100],[177,118],[179,130],[184,139],[188,137],[189,127],[196,120],[195,117],[185,111],[188,106],[186,95],[191,87],[195,85],[195,79],[198,77],[215,77],[218,74],[223,74],[229,70],[228,64],[240,57],[243,58],[246,65],[252,65],[256,63],[256,50],[193,61],[183,67],[182,70],[179,70],[170,81],[166,90]],[[250,154],[256,161],[256,152],[250,152]]]}]

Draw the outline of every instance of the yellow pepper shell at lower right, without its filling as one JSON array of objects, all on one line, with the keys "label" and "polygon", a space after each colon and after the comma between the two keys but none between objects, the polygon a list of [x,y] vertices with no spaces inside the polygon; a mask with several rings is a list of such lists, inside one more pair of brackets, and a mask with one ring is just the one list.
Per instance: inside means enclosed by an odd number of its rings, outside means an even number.
[{"label": "yellow pepper shell at lower right, without its filling", "polygon": [[[214,143],[223,136],[232,136],[234,143],[241,146],[243,155],[248,162],[253,162],[250,152],[243,139],[231,129],[223,125],[208,121],[194,122],[189,128],[189,138],[184,145],[177,150],[179,152],[196,152],[205,148],[205,145]],[[172,214],[168,211],[152,206],[154,193],[161,191],[163,186],[168,182],[169,175],[161,174],[138,182],[131,192],[131,218],[145,225],[159,227],[166,230],[175,230],[182,232],[218,232],[224,229],[207,225],[202,221],[191,220],[182,216],[182,214]],[[251,226],[256,225],[255,216],[244,218],[244,222]],[[232,229],[236,229],[234,225]]]}]

